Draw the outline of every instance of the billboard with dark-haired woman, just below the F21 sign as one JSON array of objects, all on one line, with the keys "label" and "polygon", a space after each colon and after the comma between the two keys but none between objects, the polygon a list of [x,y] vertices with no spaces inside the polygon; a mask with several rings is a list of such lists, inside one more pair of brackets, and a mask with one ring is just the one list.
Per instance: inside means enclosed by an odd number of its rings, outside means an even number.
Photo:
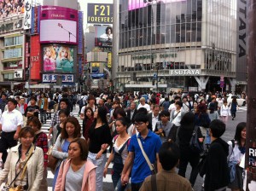
[{"label": "billboard with dark-haired woman, just below the F21 sign", "polygon": [[95,26],[95,45],[98,47],[112,47],[113,28],[112,26]]}]

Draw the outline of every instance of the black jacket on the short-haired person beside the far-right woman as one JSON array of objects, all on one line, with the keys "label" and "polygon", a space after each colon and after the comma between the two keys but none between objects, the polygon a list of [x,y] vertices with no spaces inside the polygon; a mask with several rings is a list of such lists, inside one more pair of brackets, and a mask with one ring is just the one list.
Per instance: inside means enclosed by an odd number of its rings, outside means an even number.
[{"label": "black jacket on the short-haired person beside the far-right woman", "polygon": [[230,183],[230,171],[227,163],[229,144],[221,138],[211,143],[204,164],[206,169],[205,190],[213,191],[228,186]]}]

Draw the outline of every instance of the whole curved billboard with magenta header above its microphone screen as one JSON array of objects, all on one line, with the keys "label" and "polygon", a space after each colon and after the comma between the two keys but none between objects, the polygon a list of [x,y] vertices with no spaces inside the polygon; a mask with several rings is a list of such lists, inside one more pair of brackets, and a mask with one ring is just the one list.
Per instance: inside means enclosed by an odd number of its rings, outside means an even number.
[{"label": "whole curved billboard with magenta header above its microphone screen", "polygon": [[42,6],[40,43],[77,44],[77,23],[77,10],[56,6]]}]

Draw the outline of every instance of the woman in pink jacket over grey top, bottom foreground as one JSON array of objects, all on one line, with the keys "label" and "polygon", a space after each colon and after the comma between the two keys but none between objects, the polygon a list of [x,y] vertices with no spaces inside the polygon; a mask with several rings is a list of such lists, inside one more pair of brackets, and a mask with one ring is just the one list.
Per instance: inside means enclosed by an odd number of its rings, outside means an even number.
[{"label": "woman in pink jacket over grey top, bottom foreground", "polygon": [[68,146],[68,159],[61,163],[55,191],[96,191],[96,165],[88,157],[88,145],[76,138]]}]

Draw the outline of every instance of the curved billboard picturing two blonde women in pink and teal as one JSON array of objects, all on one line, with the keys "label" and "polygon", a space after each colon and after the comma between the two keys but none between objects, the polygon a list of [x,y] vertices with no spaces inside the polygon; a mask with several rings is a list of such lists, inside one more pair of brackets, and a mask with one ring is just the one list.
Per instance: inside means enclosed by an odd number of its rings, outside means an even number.
[{"label": "curved billboard picturing two blonde women in pink and teal", "polygon": [[44,72],[73,72],[73,51],[61,44],[44,46]]}]

